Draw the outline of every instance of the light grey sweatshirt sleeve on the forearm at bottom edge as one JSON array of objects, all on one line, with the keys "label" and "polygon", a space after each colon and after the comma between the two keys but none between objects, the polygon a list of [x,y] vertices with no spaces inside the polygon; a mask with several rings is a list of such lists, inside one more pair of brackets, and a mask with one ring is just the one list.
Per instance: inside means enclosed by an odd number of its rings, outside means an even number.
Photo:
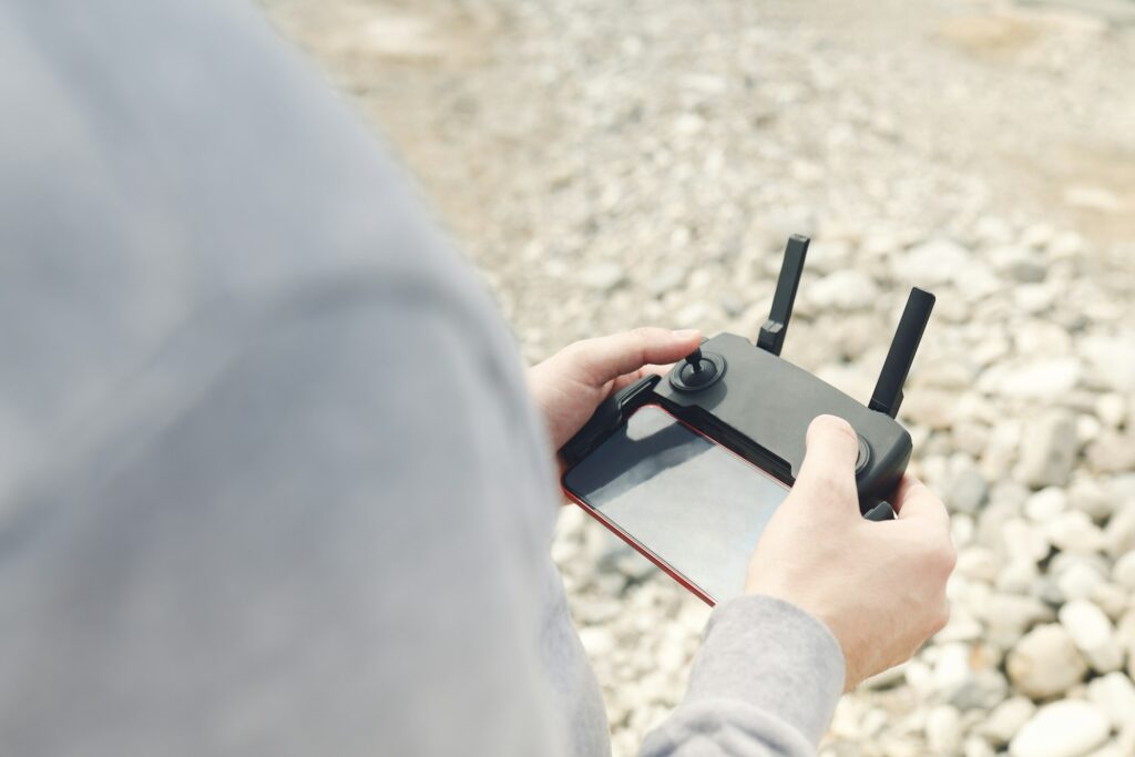
[{"label": "light grey sweatshirt sleeve on the forearm at bottom edge", "polygon": [[711,616],[686,700],[642,755],[814,755],[843,682],[843,654],[819,620],[772,597],[733,599]]}]

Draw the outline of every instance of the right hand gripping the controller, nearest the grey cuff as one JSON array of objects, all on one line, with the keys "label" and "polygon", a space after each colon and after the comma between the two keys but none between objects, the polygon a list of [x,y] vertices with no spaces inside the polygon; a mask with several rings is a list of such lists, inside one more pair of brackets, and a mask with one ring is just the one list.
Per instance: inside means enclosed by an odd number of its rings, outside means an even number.
[{"label": "right hand gripping the controller, nearest the grey cuff", "polygon": [[956,553],[942,502],[911,477],[899,486],[898,520],[859,515],[851,426],[821,415],[792,493],[749,562],[746,591],[815,615],[843,649],[847,689],[909,658],[945,625],[945,581]]}]

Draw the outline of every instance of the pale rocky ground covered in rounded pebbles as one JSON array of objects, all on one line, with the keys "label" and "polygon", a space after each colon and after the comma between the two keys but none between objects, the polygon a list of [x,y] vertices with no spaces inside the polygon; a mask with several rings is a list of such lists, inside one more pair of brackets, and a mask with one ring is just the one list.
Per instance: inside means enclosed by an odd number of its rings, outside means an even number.
[{"label": "pale rocky ground covered in rounded pebbles", "polygon": [[[1135,3],[266,5],[530,360],[640,323],[755,335],[802,232],[784,356],[866,399],[932,288],[902,420],[953,512],[953,617],[823,754],[1135,755]],[[554,556],[633,754],[707,608],[577,508]]]}]

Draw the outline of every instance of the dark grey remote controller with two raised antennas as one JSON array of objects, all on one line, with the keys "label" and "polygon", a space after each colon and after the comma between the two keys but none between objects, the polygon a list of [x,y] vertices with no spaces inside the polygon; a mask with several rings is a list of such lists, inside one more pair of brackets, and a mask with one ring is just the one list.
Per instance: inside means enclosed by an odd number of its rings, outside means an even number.
[{"label": "dark grey remote controller with two raised antennas", "polygon": [[864,405],[780,358],[807,249],[807,238],[789,239],[772,316],[756,345],[742,336],[718,334],[667,376],[644,378],[609,397],[561,449],[568,465],[591,454],[636,410],[657,404],[791,486],[804,463],[808,426],[817,415],[832,414],[847,420],[859,438],[860,511],[871,520],[893,519],[888,499],[911,453],[910,435],[894,415],[934,296],[911,292],[875,393]]}]

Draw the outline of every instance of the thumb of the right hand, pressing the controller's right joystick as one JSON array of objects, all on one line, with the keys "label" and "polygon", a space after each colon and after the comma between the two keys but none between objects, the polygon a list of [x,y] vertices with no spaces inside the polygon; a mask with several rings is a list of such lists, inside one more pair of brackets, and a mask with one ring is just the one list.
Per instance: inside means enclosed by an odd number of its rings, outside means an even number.
[{"label": "thumb of the right hand, pressing the controller's right joystick", "polygon": [[819,415],[808,427],[807,444],[800,474],[792,487],[793,498],[805,497],[826,507],[858,512],[855,464],[859,438],[855,429],[842,418]]}]

